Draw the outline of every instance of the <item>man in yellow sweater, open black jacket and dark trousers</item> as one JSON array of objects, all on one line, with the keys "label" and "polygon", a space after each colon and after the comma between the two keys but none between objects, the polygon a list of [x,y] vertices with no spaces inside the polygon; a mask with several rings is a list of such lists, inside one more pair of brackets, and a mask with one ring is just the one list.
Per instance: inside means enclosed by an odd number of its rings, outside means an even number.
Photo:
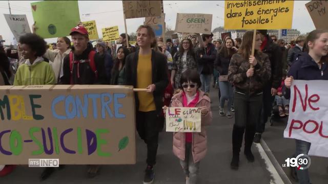
[{"label": "man in yellow sweater, open black jacket and dark trousers", "polygon": [[147,88],[137,92],[136,127],[139,136],[147,144],[147,168],[144,183],[153,183],[158,147],[159,121],[162,97],[167,87],[168,66],[165,55],[151,49],[155,33],[150,26],[142,25],[137,30],[139,50],[128,55],[126,59],[127,85]]}]

